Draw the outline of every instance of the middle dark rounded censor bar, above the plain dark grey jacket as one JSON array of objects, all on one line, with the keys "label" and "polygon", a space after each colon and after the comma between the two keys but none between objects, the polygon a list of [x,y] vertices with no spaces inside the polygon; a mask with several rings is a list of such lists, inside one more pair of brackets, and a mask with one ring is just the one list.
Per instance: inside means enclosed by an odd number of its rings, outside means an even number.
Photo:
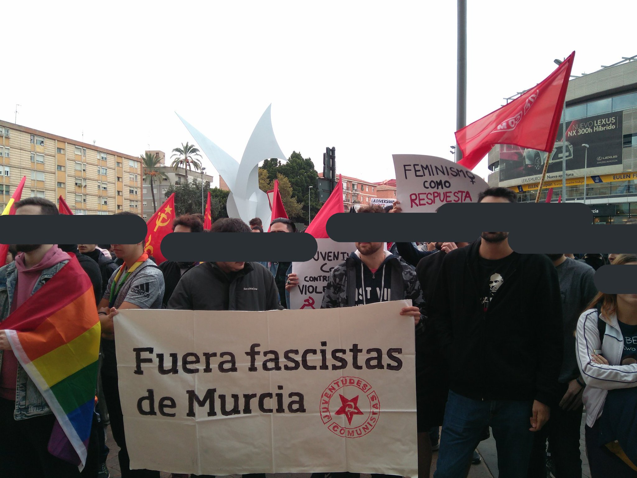
[{"label": "middle dark rounded censor bar, above the plain dark grey jacket", "polygon": [[306,233],[170,233],[161,252],[176,262],[305,262],[318,249]]}]

